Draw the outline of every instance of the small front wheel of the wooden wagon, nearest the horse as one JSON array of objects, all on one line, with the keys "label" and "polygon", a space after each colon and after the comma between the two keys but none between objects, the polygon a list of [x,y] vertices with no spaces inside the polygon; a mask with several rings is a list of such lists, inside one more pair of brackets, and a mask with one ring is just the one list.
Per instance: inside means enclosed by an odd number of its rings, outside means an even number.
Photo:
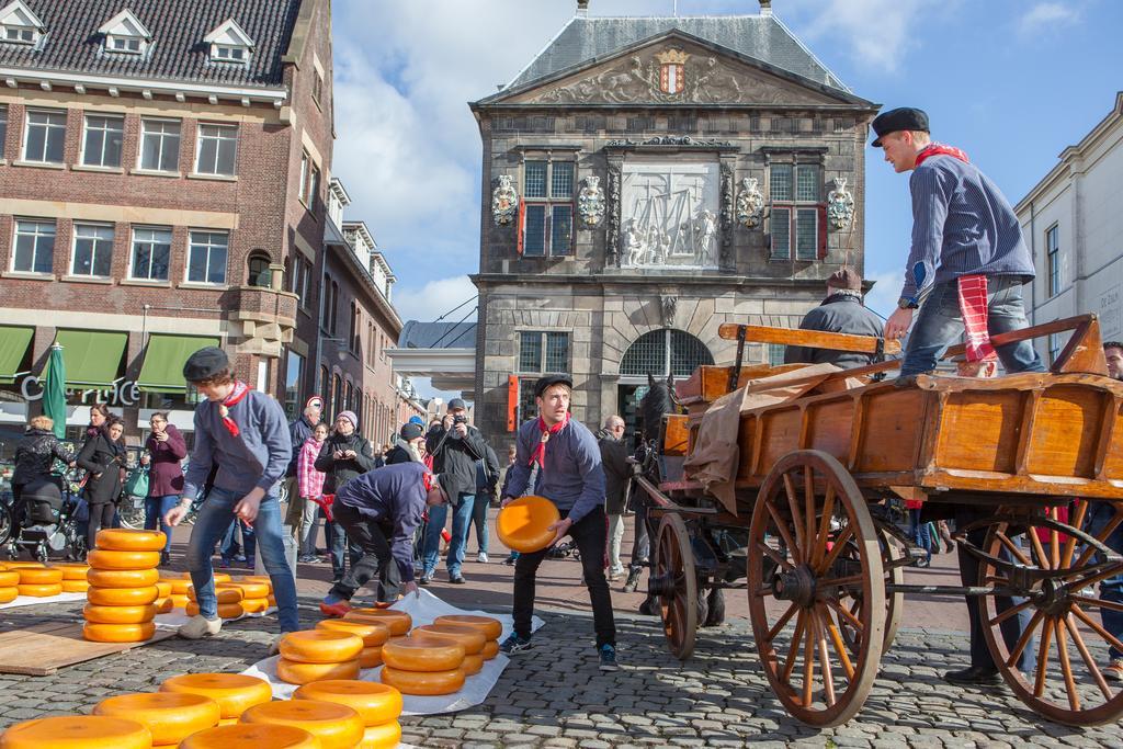
[{"label": "small front wheel of the wooden wagon, nearest the horse", "polygon": [[651,559],[650,595],[659,600],[663,632],[672,655],[686,660],[694,652],[699,628],[699,585],[686,523],[667,513],[659,523]]}]

